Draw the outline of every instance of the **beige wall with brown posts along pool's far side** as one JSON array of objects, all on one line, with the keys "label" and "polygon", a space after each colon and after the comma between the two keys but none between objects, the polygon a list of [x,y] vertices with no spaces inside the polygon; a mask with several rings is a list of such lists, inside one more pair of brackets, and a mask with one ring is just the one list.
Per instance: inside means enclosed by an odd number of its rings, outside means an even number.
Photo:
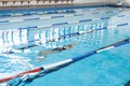
[{"label": "beige wall with brown posts along pool's far side", "polygon": [[87,4],[87,5],[98,5],[98,4],[117,4],[117,0],[0,0],[0,6],[4,8],[11,8],[11,6],[16,6],[16,8],[24,8],[24,6],[57,6],[57,5],[72,5],[72,4]]}]

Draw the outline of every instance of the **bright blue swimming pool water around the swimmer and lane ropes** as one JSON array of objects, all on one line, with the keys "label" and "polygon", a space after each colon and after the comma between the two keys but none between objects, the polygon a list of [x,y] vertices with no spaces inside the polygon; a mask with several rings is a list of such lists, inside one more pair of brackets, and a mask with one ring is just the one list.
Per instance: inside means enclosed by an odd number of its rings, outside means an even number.
[{"label": "bright blue swimming pool water around the swimmer and lane ropes", "polygon": [[[129,9],[101,6],[58,12],[17,16],[20,12],[0,18],[0,78],[80,57],[130,38]],[[72,43],[73,48],[36,61],[39,52]],[[130,44],[125,44],[94,54],[31,83],[21,82],[23,76],[5,83],[10,86],[123,86],[130,80],[129,48]]]}]

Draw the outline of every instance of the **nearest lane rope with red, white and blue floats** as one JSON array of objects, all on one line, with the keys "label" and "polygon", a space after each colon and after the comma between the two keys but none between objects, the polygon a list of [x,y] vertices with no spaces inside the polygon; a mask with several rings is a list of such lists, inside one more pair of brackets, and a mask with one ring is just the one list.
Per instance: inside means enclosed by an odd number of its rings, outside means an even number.
[{"label": "nearest lane rope with red, white and blue floats", "polygon": [[125,44],[128,44],[128,43],[130,43],[130,38],[121,40],[121,41],[116,42],[116,43],[113,43],[110,45],[101,47],[99,49],[89,52],[89,53],[87,53],[82,56],[79,56],[79,57],[69,58],[69,59],[66,59],[66,60],[63,60],[63,61],[54,62],[54,63],[42,66],[40,68],[36,68],[36,69],[32,69],[32,70],[29,70],[29,71],[25,71],[25,72],[16,74],[16,75],[12,75],[12,76],[9,76],[9,77],[1,78],[0,83],[4,83],[4,82],[8,82],[8,81],[13,80],[13,78],[24,76],[26,74],[38,73],[38,72],[41,72],[41,71],[50,71],[50,70],[53,70],[53,69],[61,69],[61,67],[62,68],[66,67],[69,63],[74,63],[78,60],[88,58],[88,57],[90,57],[92,55],[95,55],[98,53],[101,53],[101,52],[104,52],[104,51],[107,51],[107,49],[110,49],[110,48],[115,48],[115,47],[118,47],[118,46],[121,46],[121,45],[125,45]]}]

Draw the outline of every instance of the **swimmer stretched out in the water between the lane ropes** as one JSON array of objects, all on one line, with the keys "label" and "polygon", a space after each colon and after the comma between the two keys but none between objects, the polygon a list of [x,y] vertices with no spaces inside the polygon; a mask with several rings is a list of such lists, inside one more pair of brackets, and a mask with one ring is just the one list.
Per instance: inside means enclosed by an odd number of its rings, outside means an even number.
[{"label": "swimmer stretched out in the water between the lane ropes", "polygon": [[47,57],[47,55],[49,55],[49,54],[55,54],[55,53],[60,53],[60,52],[65,51],[65,49],[69,49],[69,48],[74,47],[74,45],[75,45],[75,43],[65,45],[63,47],[56,47],[56,48],[47,49],[43,52],[41,51],[37,54],[36,61],[43,60]]}]

